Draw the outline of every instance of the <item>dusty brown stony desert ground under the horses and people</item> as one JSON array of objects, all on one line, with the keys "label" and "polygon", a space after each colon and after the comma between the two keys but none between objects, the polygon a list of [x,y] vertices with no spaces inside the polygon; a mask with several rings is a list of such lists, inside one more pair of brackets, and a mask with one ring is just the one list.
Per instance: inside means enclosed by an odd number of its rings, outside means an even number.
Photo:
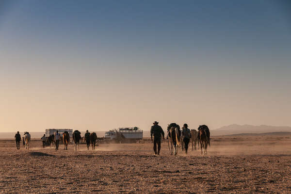
[{"label": "dusty brown stony desert ground under the horses and people", "polygon": [[291,136],[212,137],[207,156],[163,142],[99,145],[95,151],[31,149],[0,140],[0,193],[291,193]]}]

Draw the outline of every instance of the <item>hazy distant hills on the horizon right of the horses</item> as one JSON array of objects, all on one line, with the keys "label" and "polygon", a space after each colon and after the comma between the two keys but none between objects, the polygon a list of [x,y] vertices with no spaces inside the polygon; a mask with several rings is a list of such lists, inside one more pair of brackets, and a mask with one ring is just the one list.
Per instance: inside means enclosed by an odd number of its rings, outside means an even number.
[{"label": "hazy distant hills on the horizon right of the horses", "polygon": [[246,133],[271,133],[271,132],[291,132],[291,127],[275,127],[267,125],[228,125],[218,129],[210,130],[211,135],[232,135]]}]

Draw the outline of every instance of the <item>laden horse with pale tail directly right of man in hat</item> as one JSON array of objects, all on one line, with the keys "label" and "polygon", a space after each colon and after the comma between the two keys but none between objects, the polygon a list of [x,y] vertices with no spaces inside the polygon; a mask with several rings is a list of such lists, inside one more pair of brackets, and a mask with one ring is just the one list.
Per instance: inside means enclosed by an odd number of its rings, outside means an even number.
[{"label": "laden horse with pale tail directly right of man in hat", "polygon": [[[179,125],[168,125],[168,143],[169,138],[171,140],[171,155],[173,155],[173,147],[174,147],[174,155],[178,154],[178,146],[181,145],[181,130]],[[168,144],[169,146],[169,144]],[[170,146],[169,146],[170,149]]]}]

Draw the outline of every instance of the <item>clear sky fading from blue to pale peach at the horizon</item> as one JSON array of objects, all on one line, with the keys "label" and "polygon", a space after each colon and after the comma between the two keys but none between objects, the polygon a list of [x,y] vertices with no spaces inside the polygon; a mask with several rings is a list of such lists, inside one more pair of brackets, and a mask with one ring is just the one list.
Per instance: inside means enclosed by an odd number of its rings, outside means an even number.
[{"label": "clear sky fading from blue to pale peach at the horizon", "polygon": [[291,126],[289,0],[1,0],[0,132]]}]

